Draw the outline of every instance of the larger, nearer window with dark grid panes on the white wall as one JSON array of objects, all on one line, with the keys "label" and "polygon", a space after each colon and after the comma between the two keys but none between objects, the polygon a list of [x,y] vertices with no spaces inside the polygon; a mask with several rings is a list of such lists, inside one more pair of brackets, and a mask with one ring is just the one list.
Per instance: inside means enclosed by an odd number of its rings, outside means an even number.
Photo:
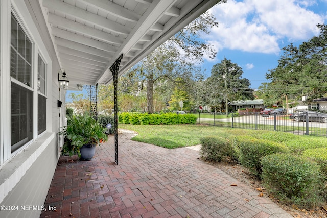
[{"label": "larger, nearer window with dark grid panes on the white wall", "polygon": [[11,152],[33,139],[32,43],[11,14]]}]

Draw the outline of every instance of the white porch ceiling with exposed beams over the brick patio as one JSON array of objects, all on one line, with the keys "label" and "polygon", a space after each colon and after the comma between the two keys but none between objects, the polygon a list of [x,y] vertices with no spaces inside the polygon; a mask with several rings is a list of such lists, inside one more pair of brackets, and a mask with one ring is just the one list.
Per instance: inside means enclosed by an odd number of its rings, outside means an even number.
[{"label": "white porch ceiling with exposed beams over the brick patio", "polygon": [[[39,0],[69,89],[108,84],[220,0]],[[58,69],[59,70],[59,69]]]}]

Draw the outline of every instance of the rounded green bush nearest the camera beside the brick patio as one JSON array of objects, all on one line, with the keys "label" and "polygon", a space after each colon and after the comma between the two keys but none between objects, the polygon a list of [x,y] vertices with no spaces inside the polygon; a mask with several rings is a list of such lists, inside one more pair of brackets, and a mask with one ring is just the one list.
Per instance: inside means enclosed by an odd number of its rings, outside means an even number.
[{"label": "rounded green bush nearest the camera beside the brick patio", "polygon": [[261,164],[267,190],[282,202],[300,206],[322,203],[320,167],[313,161],[279,153],[263,157]]}]

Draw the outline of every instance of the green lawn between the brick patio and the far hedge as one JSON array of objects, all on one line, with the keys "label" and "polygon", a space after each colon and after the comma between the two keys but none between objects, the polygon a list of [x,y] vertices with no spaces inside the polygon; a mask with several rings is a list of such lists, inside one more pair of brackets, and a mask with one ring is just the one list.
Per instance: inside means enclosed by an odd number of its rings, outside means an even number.
[{"label": "green lawn between the brick patio and the far hedge", "polygon": [[253,134],[254,130],[217,128],[202,125],[131,125],[119,124],[118,128],[133,130],[138,133],[132,140],[155,144],[156,146],[174,149],[200,144],[200,138],[219,135],[228,138],[242,132]]}]

